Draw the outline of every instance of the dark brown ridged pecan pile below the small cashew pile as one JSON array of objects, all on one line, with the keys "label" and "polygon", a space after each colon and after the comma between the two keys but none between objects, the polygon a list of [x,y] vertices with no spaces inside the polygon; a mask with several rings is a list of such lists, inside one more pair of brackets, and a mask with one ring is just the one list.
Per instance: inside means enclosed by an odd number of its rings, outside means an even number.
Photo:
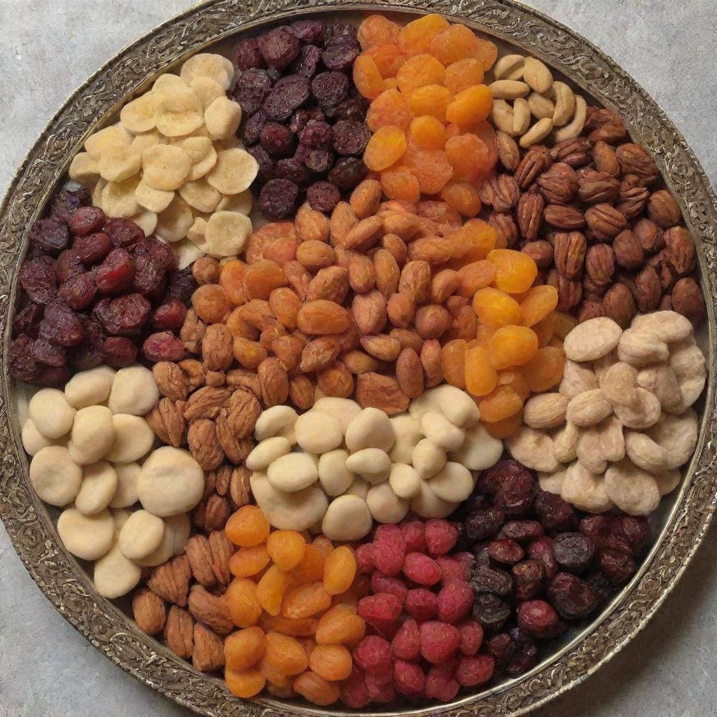
[{"label": "dark brown ridged pecan pile below the small cashew pile", "polygon": [[533,257],[543,282],[558,290],[560,310],[581,321],[609,316],[622,328],[638,311],[658,308],[695,325],[705,318],[680,207],[656,186],[657,165],[626,141],[617,115],[589,108],[582,136],[522,157],[511,137],[498,136],[509,174],[487,181],[481,200],[493,207],[489,222],[505,243]]}]

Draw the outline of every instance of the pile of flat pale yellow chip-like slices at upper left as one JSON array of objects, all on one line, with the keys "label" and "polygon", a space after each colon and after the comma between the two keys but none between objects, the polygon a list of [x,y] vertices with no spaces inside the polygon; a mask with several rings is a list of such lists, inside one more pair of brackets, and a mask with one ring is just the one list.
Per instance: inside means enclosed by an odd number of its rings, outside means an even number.
[{"label": "pile of flat pale yellow chip-like slices at upper left", "polygon": [[93,204],[170,244],[182,268],[202,254],[239,254],[252,232],[258,165],[235,136],[242,109],[227,98],[233,82],[226,57],[190,57],[87,138],[70,164]]}]

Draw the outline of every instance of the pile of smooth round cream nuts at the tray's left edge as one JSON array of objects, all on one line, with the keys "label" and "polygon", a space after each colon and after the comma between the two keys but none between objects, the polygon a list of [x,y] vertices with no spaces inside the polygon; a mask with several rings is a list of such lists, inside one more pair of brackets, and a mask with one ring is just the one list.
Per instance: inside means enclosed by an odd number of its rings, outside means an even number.
[{"label": "pile of smooth round cream nuts at the tray's left edge", "polygon": [[[95,587],[105,597],[129,592],[141,567],[184,549],[187,513],[204,493],[204,471],[189,452],[152,450],[144,415],[158,396],[143,366],[100,366],[29,402],[22,442],[30,482],[45,503],[65,508],[60,538],[73,555],[96,561]],[[142,510],[127,510],[138,501]]]}]

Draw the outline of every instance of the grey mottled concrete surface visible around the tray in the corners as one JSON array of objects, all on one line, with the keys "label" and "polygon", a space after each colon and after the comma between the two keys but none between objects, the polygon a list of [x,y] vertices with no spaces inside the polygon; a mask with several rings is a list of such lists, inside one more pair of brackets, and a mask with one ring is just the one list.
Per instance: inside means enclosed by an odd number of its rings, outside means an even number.
[{"label": "grey mottled concrete surface visible around the tray in the corners", "polygon": [[[0,0],[0,194],[67,95],[191,0]],[[717,186],[715,0],[532,0],[610,54],[665,109]],[[717,713],[717,528],[660,614],[535,717]],[[0,717],[189,717],[72,630],[0,526]]]}]

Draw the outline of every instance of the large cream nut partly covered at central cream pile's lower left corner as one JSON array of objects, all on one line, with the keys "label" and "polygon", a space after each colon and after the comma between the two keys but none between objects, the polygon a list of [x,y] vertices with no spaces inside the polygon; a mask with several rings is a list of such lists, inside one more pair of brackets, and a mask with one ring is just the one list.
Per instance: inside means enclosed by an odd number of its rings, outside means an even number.
[{"label": "large cream nut partly covered at central cream pile's lower left corner", "polygon": [[252,473],[250,485],[267,521],[279,530],[304,531],[326,513],[328,500],[315,485],[295,493],[283,493],[271,485],[266,473]]}]

